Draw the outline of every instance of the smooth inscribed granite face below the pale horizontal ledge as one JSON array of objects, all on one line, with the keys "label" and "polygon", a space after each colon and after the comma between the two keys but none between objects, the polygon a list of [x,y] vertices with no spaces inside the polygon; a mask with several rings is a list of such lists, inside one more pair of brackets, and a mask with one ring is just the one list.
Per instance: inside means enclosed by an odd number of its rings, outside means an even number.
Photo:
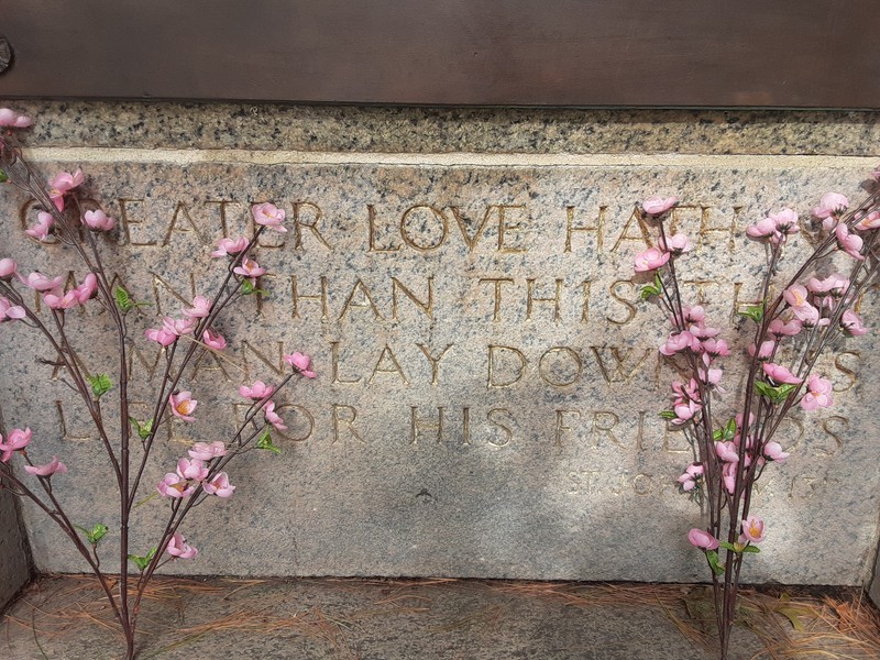
[{"label": "smooth inscribed granite face below the pale horizontal ledge", "polygon": [[[199,507],[187,526],[202,550],[198,560],[168,570],[682,582],[698,580],[705,568],[685,539],[700,515],[674,483],[691,461],[686,446],[656,417],[672,371],[659,366],[656,351],[666,334],[662,315],[634,305],[630,264],[644,240],[632,204],[674,190],[697,205],[676,217],[694,239],[703,233],[681,267],[689,282],[702,283],[690,285],[691,294],[702,287],[712,318],[744,350],[732,297],[754,297],[751,277],[763,258],[743,238],[745,224],[782,204],[804,212],[828,187],[856,197],[864,174],[718,163],[180,168],[119,162],[87,169],[108,212],[122,217],[120,199],[127,200],[125,224],[111,243],[129,244],[109,248],[108,260],[132,295],[152,304],[131,321],[139,351],[131,371],[144,382],[132,393],[136,400],[148,400],[158,377],[150,377],[160,355],[143,329],[155,326],[156,314],[178,314],[175,295],[206,293],[205,273],[223,272],[208,257],[223,223],[238,234],[246,204],[263,199],[275,199],[292,222],[297,218],[288,234],[267,237],[258,251],[271,296],[258,308],[243,301],[242,315],[219,326],[232,363],[206,358],[185,376],[182,388],[201,402],[197,421],[170,425],[140,496],[154,491],[188,441],[231,430],[239,385],[277,381],[279,350],[312,354],[320,377],[278,399],[290,426],[286,438],[278,436],[284,453],[248,454],[232,470],[234,498]],[[221,209],[218,200],[234,204]],[[8,195],[0,210],[15,218],[21,204]],[[38,249],[19,231],[10,235],[6,249],[22,255],[23,270],[67,270],[61,246]],[[81,270],[75,273],[81,278]],[[875,309],[866,300],[867,318]],[[75,312],[68,327],[90,369],[112,369],[110,342],[78,330],[89,328],[87,320],[100,326],[96,315]],[[70,472],[57,487],[75,519],[112,528],[100,446],[64,384],[46,380],[51,369],[21,360],[24,352],[40,354],[25,330],[2,327],[3,373],[16,375],[2,384],[7,419],[34,429],[36,459],[65,457]],[[880,474],[864,471],[858,488],[850,484],[853,465],[876,464],[878,457],[873,421],[860,414],[876,405],[869,375],[877,341],[847,341],[837,364],[824,361],[837,405],[799,414],[783,431],[780,440],[794,455],[765,477],[756,504],[772,532],[746,580],[866,580]],[[732,363],[726,378],[736,387],[741,372]],[[853,373],[861,378],[855,386]],[[50,414],[35,415],[35,402],[48,402]],[[733,405],[723,397],[716,410],[733,414]],[[135,547],[151,544],[164,508],[160,499],[139,507],[144,536]],[[80,569],[54,526],[30,507],[25,513],[38,565]],[[114,537],[106,543],[112,554]]]}]

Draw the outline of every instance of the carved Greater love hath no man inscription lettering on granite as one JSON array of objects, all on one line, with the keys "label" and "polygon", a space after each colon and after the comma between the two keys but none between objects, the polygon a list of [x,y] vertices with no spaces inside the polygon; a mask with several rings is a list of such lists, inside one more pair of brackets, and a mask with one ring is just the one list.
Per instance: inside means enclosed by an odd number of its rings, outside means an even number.
[{"label": "carved Greater love hath no man inscription lettering on granite", "polygon": [[[124,286],[158,315],[175,315],[204,294],[201,276],[163,270],[162,255],[204,252],[220,237],[253,232],[250,209],[261,201],[226,193],[162,202],[119,197],[108,205],[120,221],[119,243],[144,255],[151,271],[147,282],[129,283],[121,268],[111,286]],[[658,354],[660,338],[639,326],[647,312],[638,308],[640,282],[629,264],[652,240],[635,208],[601,200],[544,208],[525,195],[396,206],[380,196],[344,212],[319,198],[280,206],[290,231],[266,232],[258,245],[261,260],[276,260],[257,285],[268,295],[243,301],[266,337],[249,334],[222,354],[199,351],[186,382],[234,393],[242,383],[280,380],[288,371],[284,354],[308,350],[321,378],[316,394],[302,387],[276,402],[287,425],[273,433],[279,444],[346,455],[393,446],[409,454],[575,457],[560,472],[571,496],[648,499],[675,492],[666,471],[647,468],[649,455],[678,468],[693,448],[646,404],[662,406],[673,372]],[[21,209],[23,226],[30,213]],[[685,231],[697,253],[729,255],[745,222],[740,206],[698,204],[678,207],[669,231]],[[738,271],[696,274],[682,287],[697,301],[726,300],[715,312],[729,326],[759,297]],[[155,344],[133,341],[128,360],[132,381],[162,377],[164,353]],[[860,363],[861,353],[849,348],[832,359],[836,397],[854,388]],[[150,409],[139,405],[146,418]],[[239,421],[248,408],[220,405]],[[55,413],[63,440],[94,440],[87,420],[72,418],[63,400]],[[850,427],[845,413],[793,418],[779,436],[787,450],[828,462],[844,451]],[[168,442],[191,441],[183,425],[165,428]],[[615,455],[620,470],[590,468]],[[763,480],[758,496],[806,499],[831,487],[834,479],[811,463],[806,472]]]}]

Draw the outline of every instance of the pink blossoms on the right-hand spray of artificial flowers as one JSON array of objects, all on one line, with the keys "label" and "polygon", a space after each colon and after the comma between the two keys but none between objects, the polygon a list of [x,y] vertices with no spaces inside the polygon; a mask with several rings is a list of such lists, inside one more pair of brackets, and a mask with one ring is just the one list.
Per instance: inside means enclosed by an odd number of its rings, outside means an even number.
[{"label": "pink blossoms on the right-hand spray of artificial flowers", "polygon": [[[880,170],[878,170],[880,172]],[[880,178],[878,178],[880,180]],[[647,217],[662,220],[674,206],[674,197],[651,197],[641,204],[641,209]],[[821,221],[825,232],[829,232],[837,248],[853,258],[862,261],[861,254],[864,240],[858,233],[850,231],[850,227],[842,222],[842,218],[849,207],[849,200],[839,194],[828,193],[823,196],[820,205],[813,209],[813,216]],[[866,213],[857,218],[853,224],[856,232],[871,231],[880,228],[880,212]],[[789,237],[800,231],[798,213],[790,208],[777,213],[770,213],[747,229],[752,239],[763,240],[780,249]],[[691,243],[683,234],[666,237],[660,231],[660,240],[656,248],[640,252],[635,258],[635,270],[638,273],[651,273],[670,264],[671,260],[688,252]],[[659,276],[654,285],[646,287],[648,295],[659,295],[664,284]],[[783,292],[785,308],[782,314],[768,323],[768,332],[760,345],[749,348],[749,353],[761,364],[762,384],[767,396],[784,396],[785,386],[802,386],[803,378],[793,374],[787,366],[777,363],[776,356],[779,344],[785,338],[792,338],[804,330],[827,327],[835,317],[834,310],[843,298],[849,295],[850,282],[839,275],[832,274],[825,278],[812,277],[805,284],[793,284]],[[671,309],[672,301],[668,304]],[[706,322],[705,311],[702,307],[682,307],[681,318],[673,318],[673,330],[660,348],[660,353],[666,356],[688,354],[689,364],[695,370],[695,377],[690,382],[673,382],[672,410],[663,416],[676,426],[697,424],[704,402],[702,397],[713,389],[718,389],[722,370],[715,364],[717,358],[729,354],[727,342],[718,338],[719,331]],[[679,316],[679,312],[674,315]],[[842,330],[849,336],[859,336],[867,332],[858,315],[846,310],[840,315]],[[695,361],[695,362],[694,362]],[[833,405],[832,383],[817,374],[811,374],[801,396],[800,405],[805,410],[827,408]],[[762,393],[765,391],[761,391]],[[751,428],[755,424],[750,415]],[[734,429],[735,422],[735,429]],[[760,438],[744,438],[743,415],[737,415],[730,422],[730,428],[724,432],[716,432],[710,442],[714,451],[703,460],[712,462],[719,471],[724,490],[733,494],[736,491],[737,474],[757,462],[763,465],[768,461],[782,462],[789,458],[778,442],[762,441]],[[745,447],[740,447],[745,444]],[[743,463],[743,464],[740,464]],[[704,476],[706,466],[701,462],[689,464],[679,475],[678,483],[684,492],[695,491]],[[747,516],[741,520],[741,544],[758,543],[765,538],[765,524],[757,516]],[[692,544],[705,551],[714,551],[719,547],[719,541],[712,534],[702,529],[692,529],[689,534]],[[741,551],[738,549],[737,551]]]}]

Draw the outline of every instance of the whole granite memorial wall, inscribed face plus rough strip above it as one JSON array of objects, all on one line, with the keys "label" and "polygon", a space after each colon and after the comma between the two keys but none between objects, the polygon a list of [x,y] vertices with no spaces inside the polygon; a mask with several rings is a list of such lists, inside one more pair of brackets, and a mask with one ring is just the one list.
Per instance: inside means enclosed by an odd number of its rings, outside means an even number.
[{"label": "whole granite memorial wall, inscribed face plus rough strip above it", "polygon": [[[194,514],[185,534],[201,554],[167,568],[190,574],[705,578],[685,538],[698,507],[674,482],[691,451],[657,416],[674,370],[657,351],[666,319],[637,300],[632,257],[650,238],[635,202],[684,200],[672,222],[696,245],[686,290],[739,349],[718,404],[733,406],[748,342],[736,312],[758,297],[763,265],[745,227],[784,206],[809,221],[827,190],[858,199],[880,134],[872,113],[23,109],[37,117],[26,142],[40,169],[81,167],[119,219],[110,270],[150,304],[131,320],[144,410],[162,354],[143,329],[210,290],[222,267],[209,252],[252,231],[252,204],[287,213],[290,231],[258,248],[266,295],[226,315],[230,349],[185,377],[197,421],[165,429],[141,496],[194,440],[230,433],[239,386],[277,382],[283,353],[309,353],[318,378],[277,400],[283,453],[248,454],[230,474],[235,496]],[[81,277],[62,246],[21,232],[34,216],[22,196],[4,190],[0,208],[3,256]],[[805,250],[801,239],[783,268]],[[873,295],[861,311],[876,327]],[[70,316],[84,363],[112,365],[100,311]],[[64,374],[31,356],[51,358],[25,328],[1,330],[7,424],[64,457],[54,483],[74,519],[112,529],[113,484]],[[869,581],[877,341],[824,359],[835,406],[781,431],[792,458],[759,482],[770,532],[747,581]],[[143,550],[163,508],[136,509]],[[38,570],[82,569],[40,512],[23,518]],[[103,542],[112,552],[112,532]]]}]

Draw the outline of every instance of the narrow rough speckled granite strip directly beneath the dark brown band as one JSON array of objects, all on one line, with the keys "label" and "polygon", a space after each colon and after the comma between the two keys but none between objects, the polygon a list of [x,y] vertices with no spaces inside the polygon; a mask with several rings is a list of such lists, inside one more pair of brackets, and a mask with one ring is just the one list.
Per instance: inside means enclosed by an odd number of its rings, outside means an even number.
[{"label": "narrow rough speckled granite strip directly beneath the dark brown band", "polygon": [[[10,101],[11,102],[11,101]],[[880,154],[878,112],[35,102],[34,145],[350,152]]]}]

